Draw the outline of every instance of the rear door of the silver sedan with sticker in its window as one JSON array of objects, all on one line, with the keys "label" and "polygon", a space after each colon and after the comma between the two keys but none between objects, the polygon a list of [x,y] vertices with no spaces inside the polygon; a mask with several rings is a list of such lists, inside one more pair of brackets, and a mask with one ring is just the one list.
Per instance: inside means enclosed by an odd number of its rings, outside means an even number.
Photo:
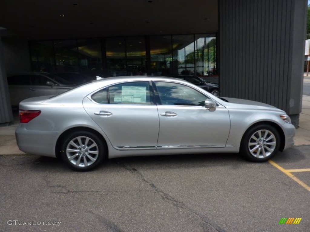
[{"label": "rear door of the silver sedan with sticker in its window", "polygon": [[83,106],[118,150],[156,149],[159,117],[148,81],[126,82],[84,98]]}]

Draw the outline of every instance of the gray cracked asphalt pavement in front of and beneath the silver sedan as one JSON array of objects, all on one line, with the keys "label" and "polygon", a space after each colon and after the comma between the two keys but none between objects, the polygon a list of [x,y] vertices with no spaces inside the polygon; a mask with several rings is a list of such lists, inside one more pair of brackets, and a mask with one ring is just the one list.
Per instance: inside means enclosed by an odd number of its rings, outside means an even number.
[{"label": "gray cracked asphalt pavement in front of and beneath the silver sedan", "polygon": [[308,231],[309,152],[290,148],[273,163],[238,154],[117,158],[84,173],[53,158],[3,155],[0,231]]}]

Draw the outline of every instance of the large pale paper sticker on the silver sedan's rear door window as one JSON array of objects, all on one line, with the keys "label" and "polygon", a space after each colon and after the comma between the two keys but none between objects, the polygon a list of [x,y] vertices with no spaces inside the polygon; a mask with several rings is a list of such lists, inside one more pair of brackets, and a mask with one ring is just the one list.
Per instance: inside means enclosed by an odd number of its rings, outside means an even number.
[{"label": "large pale paper sticker on the silver sedan's rear door window", "polygon": [[122,102],[146,103],[146,87],[122,86]]}]

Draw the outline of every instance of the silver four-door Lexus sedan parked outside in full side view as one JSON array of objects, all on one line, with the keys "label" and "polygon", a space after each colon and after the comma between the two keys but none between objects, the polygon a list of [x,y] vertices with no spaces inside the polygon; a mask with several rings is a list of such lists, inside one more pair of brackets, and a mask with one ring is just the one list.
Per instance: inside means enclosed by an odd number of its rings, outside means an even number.
[{"label": "silver four-door Lexus sedan parked outside in full side view", "polygon": [[20,150],[62,157],[74,170],[163,154],[240,152],[261,162],[294,145],[295,127],[283,110],[218,98],[175,78],[106,78],[19,107]]}]

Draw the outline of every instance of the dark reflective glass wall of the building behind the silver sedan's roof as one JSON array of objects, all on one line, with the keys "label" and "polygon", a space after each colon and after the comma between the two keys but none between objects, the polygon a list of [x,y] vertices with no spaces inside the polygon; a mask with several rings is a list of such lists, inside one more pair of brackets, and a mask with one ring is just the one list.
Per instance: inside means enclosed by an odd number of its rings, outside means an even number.
[{"label": "dark reflective glass wall of the building behind the silver sedan's roof", "polygon": [[127,75],[217,75],[216,34],[31,41],[32,71]]}]

